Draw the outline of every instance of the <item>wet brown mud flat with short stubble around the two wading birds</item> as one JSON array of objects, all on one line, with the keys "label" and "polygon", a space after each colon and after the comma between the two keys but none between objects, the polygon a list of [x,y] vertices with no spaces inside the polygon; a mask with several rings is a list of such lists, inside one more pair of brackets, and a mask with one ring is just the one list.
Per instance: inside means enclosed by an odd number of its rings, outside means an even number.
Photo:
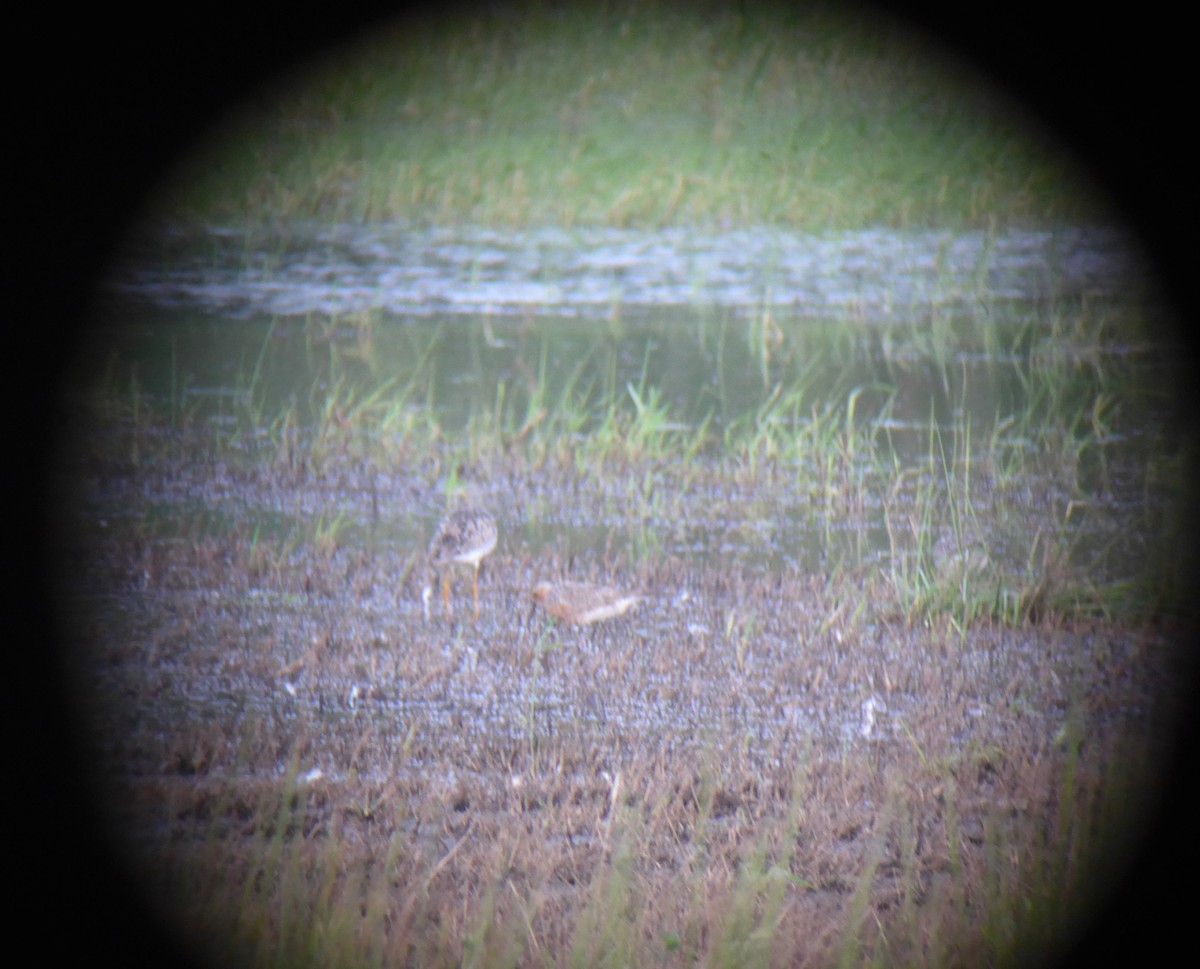
[{"label": "wet brown mud flat with short stubble around the two wading birds", "polygon": [[[619,507],[581,546],[530,522],[601,517],[577,471],[504,457],[463,469],[500,538],[479,622],[466,570],[448,620],[436,458],[96,450],[65,523],[80,723],[199,951],[223,927],[259,961],[974,963],[1068,941],[1154,787],[1148,624],[913,622],[877,568],[638,544]],[[358,525],[300,538],[268,494]],[[566,577],[644,600],[564,626],[530,590]]]}]

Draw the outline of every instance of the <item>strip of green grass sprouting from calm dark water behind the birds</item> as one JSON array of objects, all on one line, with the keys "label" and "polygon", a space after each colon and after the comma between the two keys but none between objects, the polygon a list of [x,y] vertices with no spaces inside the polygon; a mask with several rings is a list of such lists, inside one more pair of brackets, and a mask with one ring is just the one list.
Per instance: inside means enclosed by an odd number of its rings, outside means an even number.
[{"label": "strip of green grass sprouting from calm dark water behind the birds", "polygon": [[[148,369],[149,355],[110,356],[91,402],[124,441],[116,453],[131,468],[181,447],[209,461],[265,459],[295,481],[347,461],[431,461],[433,476],[460,467],[484,477],[571,475],[590,482],[610,517],[643,525],[685,520],[688,495],[734,483],[758,496],[722,510],[731,526],[778,517],[791,496],[782,511],[821,529],[833,571],[860,568],[866,552],[863,532],[844,523],[876,522],[888,555],[870,572],[887,579],[899,614],[946,616],[960,630],[1046,614],[1115,618],[1180,595],[1171,573],[1186,553],[1150,561],[1150,549],[1170,544],[1169,495],[1187,458],[1146,423],[1138,355],[1105,351],[1112,321],[1103,314],[1074,320],[1051,308],[1036,336],[986,318],[911,335],[898,326],[878,344],[874,383],[853,383],[864,354],[845,327],[826,339],[760,317],[742,325],[740,345],[702,336],[716,373],[670,392],[652,344],[630,373],[618,365],[628,338],[599,327],[468,348],[466,380],[449,369],[462,361],[448,355],[461,347],[448,327],[409,332],[370,317],[288,327],[239,336],[244,386],[212,398],[187,393],[175,355],[161,361],[163,375]],[[953,362],[980,345],[990,362]],[[569,365],[554,366],[564,349]],[[901,410],[913,380],[931,383],[924,415]],[[990,414],[974,383],[988,389]],[[1156,447],[1134,495],[1124,451],[1142,433]],[[1145,499],[1136,520],[1112,517],[1116,488]],[[330,510],[298,535],[335,548],[346,528]],[[659,530],[642,528],[642,554],[661,554],[647,541]],[[1097,547],[1104,534],[1109,544]]]}]

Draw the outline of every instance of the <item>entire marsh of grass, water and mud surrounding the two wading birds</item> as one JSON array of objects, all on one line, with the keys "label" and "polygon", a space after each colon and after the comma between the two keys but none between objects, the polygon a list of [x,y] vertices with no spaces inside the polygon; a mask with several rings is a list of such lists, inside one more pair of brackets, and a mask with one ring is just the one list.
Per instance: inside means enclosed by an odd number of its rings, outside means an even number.
[{"label": "entire marsh of grass, water and mud surrounding the two wading birds", "polygon": [[114,271],[58,479],[98,809],[214,961],[1052,953],[1175,710],[1152,278],[893,35],[596,17],[377,38]]}]

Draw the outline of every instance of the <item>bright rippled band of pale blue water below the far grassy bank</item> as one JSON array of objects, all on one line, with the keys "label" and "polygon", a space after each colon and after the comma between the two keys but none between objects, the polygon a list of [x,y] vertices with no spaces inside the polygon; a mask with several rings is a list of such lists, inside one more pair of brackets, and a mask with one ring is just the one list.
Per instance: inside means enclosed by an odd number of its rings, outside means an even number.
[{"label": "bright rippled band of pale blue water below the far grassy bank", "polygon": [[446,229],[313,225],[144,239],[122,295],[224,315],[548,313],[791,307],[896,320],[988,300],[1111,296],[1139,272],[1128,239],[1064,228],[948,233],[781,229]]}]

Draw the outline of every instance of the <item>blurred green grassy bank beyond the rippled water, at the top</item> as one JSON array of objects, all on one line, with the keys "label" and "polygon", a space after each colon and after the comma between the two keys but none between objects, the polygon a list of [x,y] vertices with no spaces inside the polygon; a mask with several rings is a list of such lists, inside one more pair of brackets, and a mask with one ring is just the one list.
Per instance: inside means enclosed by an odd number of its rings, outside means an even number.
[{"label": "blurred green grassy bank beyond the rippled water, at the top", "polygon": [[500,6],[400,20],[247,103],[173,218],[488,225],[1086,221],[1012,106],[816,6]]}]

